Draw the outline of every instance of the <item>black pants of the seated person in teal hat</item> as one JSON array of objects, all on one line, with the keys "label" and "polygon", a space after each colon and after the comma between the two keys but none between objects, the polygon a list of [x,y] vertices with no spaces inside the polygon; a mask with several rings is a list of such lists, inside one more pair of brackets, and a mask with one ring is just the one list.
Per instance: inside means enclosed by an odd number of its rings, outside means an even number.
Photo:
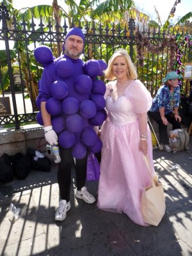
[{"label": "black pants of the seated person in teal hat", "polygon": [[[155,112],[148,111],[148,116],[153,118],[159,125],[159,141],[160,141],[160,143],[168,144],[169,139],[168,139],[167,125],[163,124],[163,122],[161,120],[160,113],[158,111],[155,111]],[[173,130],[180,129],[180,123],[179,123],[179,121],[175,120],[175,116],[172,112],[168,113],[167,115],[164,115],[164,116],[166,117],[168,122],[173,125]]]}]

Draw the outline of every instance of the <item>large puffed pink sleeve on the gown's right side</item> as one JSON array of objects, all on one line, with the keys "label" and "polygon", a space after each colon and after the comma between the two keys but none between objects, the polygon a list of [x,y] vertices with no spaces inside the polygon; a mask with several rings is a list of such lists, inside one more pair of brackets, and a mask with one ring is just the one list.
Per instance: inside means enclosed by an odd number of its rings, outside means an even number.
[{"label": "large puffed pink sleeve on the gown's right side", "polygon": [[152,106],[152,97],[140,80],[132,81],[129,85],[129,93],[135,113],[146,113]]}]

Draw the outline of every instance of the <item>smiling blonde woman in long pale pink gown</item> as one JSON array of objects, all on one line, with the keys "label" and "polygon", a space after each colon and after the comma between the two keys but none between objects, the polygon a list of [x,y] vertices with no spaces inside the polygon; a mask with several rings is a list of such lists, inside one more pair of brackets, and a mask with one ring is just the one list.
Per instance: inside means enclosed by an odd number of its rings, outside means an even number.
[{"label": "smiling blonde woman in long pale pink gown", "polygon": [[103,143],[97,206],[106,211],[124,212],[138,225],[143,221],[140,197],[150,184],[143,154],[148,156],[152,176],[152,141],[147,111],[152,97],[137,79],[136,68],[124,49],[109,60],[105,77],[108,118],[102,126]]}]

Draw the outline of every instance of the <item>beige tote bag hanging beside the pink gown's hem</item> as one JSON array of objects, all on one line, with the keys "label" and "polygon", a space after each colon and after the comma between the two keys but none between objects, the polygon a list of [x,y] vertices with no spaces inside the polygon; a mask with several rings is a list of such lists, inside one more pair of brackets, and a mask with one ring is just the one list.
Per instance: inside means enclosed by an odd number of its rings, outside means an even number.
[{"label": "beige tote bag hanging beside the pink gown's hem", "polygon": [[150,186],[143,189],[141,194],[141,212],[143,220],[149,225],[158,226],[165,213],[164,191],[158,176],[151,177],[148,157],[143,155],[147,165],[148,175],[151,180]]}]

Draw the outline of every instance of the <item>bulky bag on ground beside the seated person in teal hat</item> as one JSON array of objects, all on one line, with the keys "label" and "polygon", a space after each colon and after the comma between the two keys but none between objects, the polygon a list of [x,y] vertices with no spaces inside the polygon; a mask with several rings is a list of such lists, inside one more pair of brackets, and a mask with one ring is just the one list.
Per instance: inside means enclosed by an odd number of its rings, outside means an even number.
[{"label": "bulky bag on ground beside the seated person in teal hat", "polygon": [[175,129],[168,132],[169,145],[173,153],[188,150],[189,148],[189,134],[185,129]]}]

